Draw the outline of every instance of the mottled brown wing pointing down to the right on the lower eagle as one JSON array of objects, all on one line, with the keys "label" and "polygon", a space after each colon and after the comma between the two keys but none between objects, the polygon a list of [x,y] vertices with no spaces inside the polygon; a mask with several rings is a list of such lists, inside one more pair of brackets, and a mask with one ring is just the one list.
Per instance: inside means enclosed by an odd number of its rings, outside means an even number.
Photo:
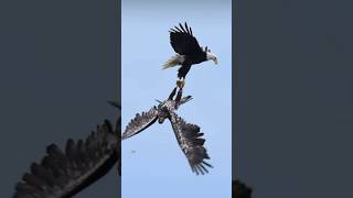
[{"label": "mottled brown wing pointing down to the right on the lower eagle", "polygon": [[208,173],[206,167],[212,167],[205,160],[210,160],[206,148],[203,146],[205,140],[201,136],[200,127],[186,123],[176,113],[170,112],[170,122],[172,124],[178,143],[185,154],[192,172],[197,175]]}]

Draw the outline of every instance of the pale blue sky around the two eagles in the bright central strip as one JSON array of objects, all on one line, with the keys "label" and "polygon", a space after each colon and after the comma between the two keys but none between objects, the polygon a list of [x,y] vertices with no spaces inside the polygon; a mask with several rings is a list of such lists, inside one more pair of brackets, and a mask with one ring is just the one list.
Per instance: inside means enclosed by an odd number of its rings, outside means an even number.
[{"label": "pale blue sky around the two eagles in the bright central strip", "polygon": [[[122,142],[122,197],[231,197],[232,180],[232,8],[227,1],[122,0],[122,128],[136,113],[163,100],[175,86],[176,68],[161,65],[174,55],[169,30],[186,21],[218,65],[191,68],[184,95],[193,100],[178,113],[205,133],[214,168],[196,176],[178,145],[171,124],[156,123]],[[132,153],[132,151],[136,151]]]}]

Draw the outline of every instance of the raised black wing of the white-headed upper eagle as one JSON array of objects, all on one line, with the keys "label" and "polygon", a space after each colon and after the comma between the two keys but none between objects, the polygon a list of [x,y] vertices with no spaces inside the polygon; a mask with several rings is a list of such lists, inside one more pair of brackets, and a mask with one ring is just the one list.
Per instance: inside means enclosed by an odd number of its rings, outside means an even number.
[{"label": "raised black wing of the white-headed upper eagle", "polygon": [[196,55],[204,53],[199,45],[197,40],[192,35],[191,28],[179,23],[179,26],[171,29],[170,32],[170,43],[174,48],[175,53],[181,55]]}]

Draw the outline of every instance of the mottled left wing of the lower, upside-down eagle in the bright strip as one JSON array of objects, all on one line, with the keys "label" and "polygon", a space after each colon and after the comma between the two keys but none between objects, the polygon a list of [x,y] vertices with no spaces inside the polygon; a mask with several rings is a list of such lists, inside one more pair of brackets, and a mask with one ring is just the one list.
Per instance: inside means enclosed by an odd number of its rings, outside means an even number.
[{"label": "mottled left wing of the lower, upside-down eagle in the bright strip", "polygon": [[128,123],[126,127],[121,139],[128,139],[130,136],[133,136],[148,127],[152,125],[158,119],[158,109],[157,107],[152,107],[149,111],[137,113],[136,117]]}]

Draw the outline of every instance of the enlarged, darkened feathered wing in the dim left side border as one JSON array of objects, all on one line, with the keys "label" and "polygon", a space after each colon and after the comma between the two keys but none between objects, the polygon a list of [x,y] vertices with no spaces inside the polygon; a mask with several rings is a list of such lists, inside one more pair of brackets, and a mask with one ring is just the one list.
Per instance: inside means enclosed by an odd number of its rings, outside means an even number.
[{"label": "enlarged, darkened feathered wing in the dim left side border", "polygon": [[[116,102],[110,102],[120,109]],[[46,147],[41,163],[32,163],[30,173],[15,185],[13,198],[69,198],[105,176],[115,164],[121,175],[120,127],[113,129],[108,120],[97,125],[85,140],[68,140],[65,151],[57,145]]]}]

